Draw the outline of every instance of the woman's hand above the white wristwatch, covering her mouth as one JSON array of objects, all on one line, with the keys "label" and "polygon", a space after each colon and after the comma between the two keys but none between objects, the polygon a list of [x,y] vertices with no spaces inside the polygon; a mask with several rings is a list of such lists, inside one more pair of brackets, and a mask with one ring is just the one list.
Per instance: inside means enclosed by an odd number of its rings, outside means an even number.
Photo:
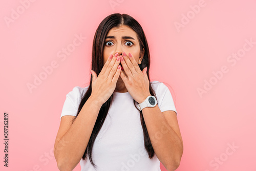
[{"label": "woman's hand above the white wristwatch, covering her mouth", "polygon": [[[124,56],[125,55],[125,56]],[[150,81],[147,78],[146,68],[141,72],[138,62],[133,55],[123,53],[121,64],[123,70],[120,77],[122,78],[127,91],[138,103],[142,103],[147,96],[150,96]],[[124,59],[124,60],[122,60]],[[127,77],[125,76],[125,74]]]}]

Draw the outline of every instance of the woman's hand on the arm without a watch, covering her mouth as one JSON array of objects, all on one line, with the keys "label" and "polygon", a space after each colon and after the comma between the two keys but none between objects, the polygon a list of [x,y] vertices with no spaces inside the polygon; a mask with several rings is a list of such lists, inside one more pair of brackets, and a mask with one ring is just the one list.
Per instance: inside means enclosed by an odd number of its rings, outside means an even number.
[{"label": "woman's hand on the arm without a watch, covering her mouth", "polygon": [[117,55],[118,53],[114,57],[110,55],[98,76],[91,70],[93,76],[91,96],[97,99],[100,105],[106,102],[116,89],[116,82],[121,72],[120,57]]}]

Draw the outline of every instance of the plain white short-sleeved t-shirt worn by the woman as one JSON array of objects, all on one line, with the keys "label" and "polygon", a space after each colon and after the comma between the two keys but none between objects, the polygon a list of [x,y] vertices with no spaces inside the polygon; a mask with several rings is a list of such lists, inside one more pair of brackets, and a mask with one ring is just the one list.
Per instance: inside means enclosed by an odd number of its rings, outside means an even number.
[{"label": "plain white short-sleeved t-shirt worn by the woman", "polygon": [[[167,86],[159,81],[152,81],[157,96],[157,104],[161,112],[177,111],[172,94]],[[89,87],[89,86],[88,86]],[[81,95],[88,87],[74,87],[67,94],[62,108],[62,116],[76,116]],[[136,104],[138,104],[136,102]],[[113,93],[113,103],[109,113],[97,135],[92,157],[97,171],[160,171],[160,161],[155,156],[150,159],[144,147],[143,130],[140,122],[140,113],[135,108],[133,97],[129,92]],[[80,160],[81,171],[96,171],[91,165],[89,157]]]}]

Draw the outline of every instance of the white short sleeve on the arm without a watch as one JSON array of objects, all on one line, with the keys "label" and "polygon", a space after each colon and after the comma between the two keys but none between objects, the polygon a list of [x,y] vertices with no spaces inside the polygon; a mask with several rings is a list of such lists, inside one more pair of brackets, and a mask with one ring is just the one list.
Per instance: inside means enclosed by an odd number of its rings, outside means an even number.
[{"label": "white short sleeve on the arm without a watch", "polygon": [[79,106],[79,100],[81,98],[81,89],[80,87],[74,87],[71,92],[66,95],[66,100],[62,107],[62,116],[71,115],[76,116]]}]

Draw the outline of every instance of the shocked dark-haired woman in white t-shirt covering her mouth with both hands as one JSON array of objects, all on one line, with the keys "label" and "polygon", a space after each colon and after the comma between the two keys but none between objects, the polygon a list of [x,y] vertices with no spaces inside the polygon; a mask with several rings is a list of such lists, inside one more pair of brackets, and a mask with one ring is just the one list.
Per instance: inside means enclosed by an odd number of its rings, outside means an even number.
[{"label": "shocked dark-haired woman in white t-shirt covering her mouth with both hands", "polygon": [[[150,81],[140,24],[111,14],[96,30],[90,85],[67,94],[54,144],[59,170],[178,168],[183,141],[168,88]],[[88,158],[89,157],[89,158]]]}]

